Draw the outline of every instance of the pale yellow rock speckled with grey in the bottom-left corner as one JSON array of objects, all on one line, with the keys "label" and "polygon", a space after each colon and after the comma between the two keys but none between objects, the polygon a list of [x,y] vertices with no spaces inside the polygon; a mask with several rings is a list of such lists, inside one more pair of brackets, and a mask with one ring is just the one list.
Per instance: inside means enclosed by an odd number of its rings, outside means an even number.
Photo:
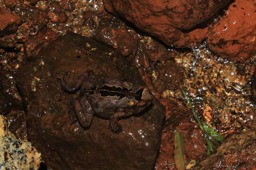
[{"label": "pale yellow rock speckled with grey in the bottom-left corner", "polygon": [[30,142],[17,139],[8,127],[7,119],[0,115],[0,170],[37,170],[41,153]]}]

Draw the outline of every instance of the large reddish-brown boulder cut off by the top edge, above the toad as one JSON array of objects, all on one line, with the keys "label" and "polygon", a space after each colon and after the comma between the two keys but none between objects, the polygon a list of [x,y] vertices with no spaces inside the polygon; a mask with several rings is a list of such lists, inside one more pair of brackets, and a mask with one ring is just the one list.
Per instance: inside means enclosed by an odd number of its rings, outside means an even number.
[{"label": "large reddish-brown boulder cut off by the top edge, above the toad", "polygon": [[167,44],[177,41],[181,30],[191,29],[212,17],[229,0],[103,0],[105,8]]}]

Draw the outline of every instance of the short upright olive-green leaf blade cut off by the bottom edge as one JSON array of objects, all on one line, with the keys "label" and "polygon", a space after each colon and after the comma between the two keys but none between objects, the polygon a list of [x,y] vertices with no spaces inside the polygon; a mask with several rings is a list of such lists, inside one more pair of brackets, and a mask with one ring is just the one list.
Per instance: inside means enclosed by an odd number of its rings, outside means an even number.
[{"label": "short upright olive-green leaf blade cut off by the bottom edge", "polygon": [[186,169],[183,155],[185,155],[183,133],[177,131],[174,136],[174,160],[178,170]]}]

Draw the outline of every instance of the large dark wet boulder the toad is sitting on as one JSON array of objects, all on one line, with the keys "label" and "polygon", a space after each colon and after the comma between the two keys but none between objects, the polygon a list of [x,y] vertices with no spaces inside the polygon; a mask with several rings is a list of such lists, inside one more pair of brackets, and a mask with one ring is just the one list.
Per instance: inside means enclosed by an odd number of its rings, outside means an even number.
[{"label": "large dark wet boulder the toad is sitting on", "polygon": [[98,117],[83,129],[78,122],[72,124],[68,115],[70,99],[79,93],[64,92],[57,80],[68,73],[66,81],[72,84],[84,71],[92,70],[99,80],[125,77],[143,85],[131,64],[113,50],[74,33],[59,37],[37,57],[19,70],[17,78],[27,111],[28,139],[47,166],[55,170],[152,170],[164,118],[159,102],[154,100],[138,115],[120,119],[119,133]]}]

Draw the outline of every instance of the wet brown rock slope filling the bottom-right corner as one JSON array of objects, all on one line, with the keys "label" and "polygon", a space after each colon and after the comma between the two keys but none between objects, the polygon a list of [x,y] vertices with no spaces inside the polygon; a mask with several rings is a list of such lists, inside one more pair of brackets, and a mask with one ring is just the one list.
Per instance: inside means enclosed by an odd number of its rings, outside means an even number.
[{"label": "wet brown rock slope filling the bottom-right corner", "polygon": [[[254,122],[255,123],[255,122]],[[192,170],[254,170],[256,168],[256,132],[246,130],[230,136],[217,153],[204,158]]]}]

